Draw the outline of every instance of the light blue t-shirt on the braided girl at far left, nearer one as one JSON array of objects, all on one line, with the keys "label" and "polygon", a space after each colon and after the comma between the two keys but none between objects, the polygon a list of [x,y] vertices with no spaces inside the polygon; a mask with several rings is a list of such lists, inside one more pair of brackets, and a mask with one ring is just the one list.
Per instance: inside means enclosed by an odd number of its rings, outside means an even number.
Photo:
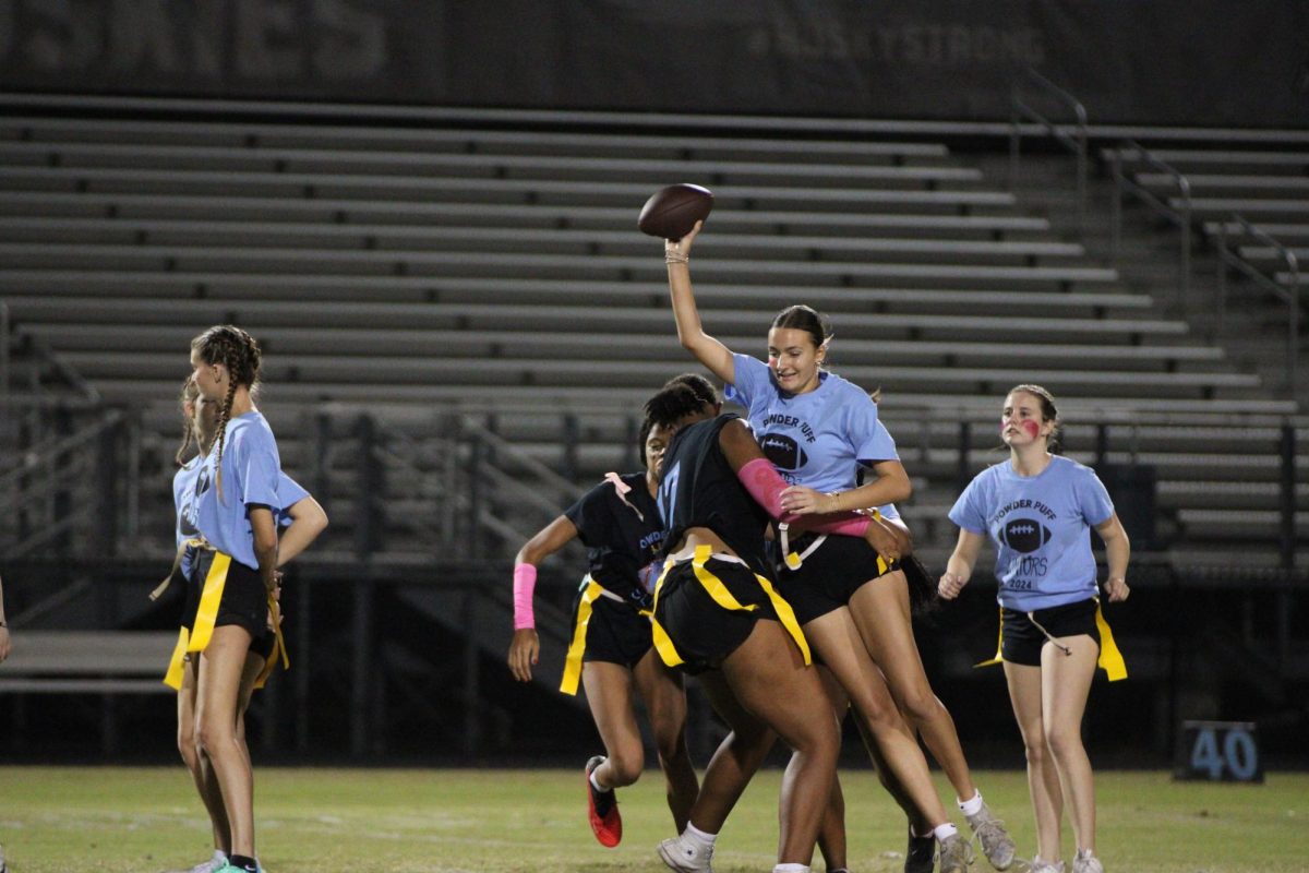
[{"label": "light blue t-shirt on the braided girl at far left, nearer one", "polygon": [[219,500],[213,461],[217,449],[200,463],[195,480],[195,526],[215,548],[257,569],[254,529],[249,509],[264,507],[276,513],[287,504],[278,495],[281,457],[272,428],[259,412],[246,412],[228,421],[223,449],[223,500]]}]

